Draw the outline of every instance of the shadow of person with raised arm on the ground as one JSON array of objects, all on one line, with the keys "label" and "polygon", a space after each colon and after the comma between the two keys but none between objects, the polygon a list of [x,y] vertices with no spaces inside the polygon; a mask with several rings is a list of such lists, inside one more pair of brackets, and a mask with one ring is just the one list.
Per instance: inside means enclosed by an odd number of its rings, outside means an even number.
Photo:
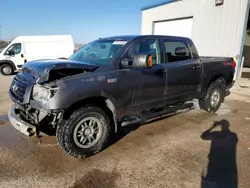
[{"label": "shadow of person with raised arm on the ground", "polygon": [[[221,131],[212,131],[216,127]],[[238,174],[236,165],[237,134],[229,130],[229,122],[215,122],[202,133],[203,140],[211,140],[206,173],[202,174],[202,188],[237,188]]]}]

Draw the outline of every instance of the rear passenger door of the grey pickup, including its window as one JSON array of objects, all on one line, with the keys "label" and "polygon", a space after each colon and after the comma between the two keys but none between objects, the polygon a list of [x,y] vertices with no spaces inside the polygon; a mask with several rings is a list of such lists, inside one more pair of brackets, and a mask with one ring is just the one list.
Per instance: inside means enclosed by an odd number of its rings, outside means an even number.
[{"label": "rear passenger door of the grey pickup, including its window", "polygon": [[201,84],[200,60],[191,51],[190,44],[182,38],[162,40],[167,69],[167,103],[196,97]]}]

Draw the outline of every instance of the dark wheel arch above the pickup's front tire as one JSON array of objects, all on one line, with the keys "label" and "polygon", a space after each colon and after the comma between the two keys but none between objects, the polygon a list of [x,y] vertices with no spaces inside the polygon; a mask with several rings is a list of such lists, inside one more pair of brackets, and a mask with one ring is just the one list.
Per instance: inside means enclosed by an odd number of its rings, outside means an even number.
[{"label": "dark wheel arch above the pickup's front tire", "polygon": [[64,119],[68,119],[73,111],[85,105],[95,105],[103,109],[111,119],[112,131],[117,132],[117,111],[114,103],[105,96],[93,96],[81,99],[70,105],[63,114]]}]

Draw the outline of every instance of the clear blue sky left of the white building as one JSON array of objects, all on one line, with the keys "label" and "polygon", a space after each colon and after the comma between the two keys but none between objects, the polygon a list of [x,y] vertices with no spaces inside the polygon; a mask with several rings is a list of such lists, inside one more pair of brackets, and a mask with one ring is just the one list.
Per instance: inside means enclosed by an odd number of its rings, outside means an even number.
[{"label": "clear blue sky left of the white building", "polygon": [[140,34],[141,8],[162,0],[2,1],[3,39],[19,35],[71,34],[78,43]]}]

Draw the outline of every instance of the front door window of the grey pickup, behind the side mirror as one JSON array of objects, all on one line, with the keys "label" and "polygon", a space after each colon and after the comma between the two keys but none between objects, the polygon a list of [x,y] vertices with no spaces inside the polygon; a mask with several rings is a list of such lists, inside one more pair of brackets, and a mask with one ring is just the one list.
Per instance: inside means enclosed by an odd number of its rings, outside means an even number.
[{"label": "front door window of the grey pickup, behind the side mirror", "polygon": [[153,65],[160,64],[160,48],[157,39],[147,39],[132,46],[127,54],[129,59],[133,59],[136,54],[150,54],[153,57]]}]

